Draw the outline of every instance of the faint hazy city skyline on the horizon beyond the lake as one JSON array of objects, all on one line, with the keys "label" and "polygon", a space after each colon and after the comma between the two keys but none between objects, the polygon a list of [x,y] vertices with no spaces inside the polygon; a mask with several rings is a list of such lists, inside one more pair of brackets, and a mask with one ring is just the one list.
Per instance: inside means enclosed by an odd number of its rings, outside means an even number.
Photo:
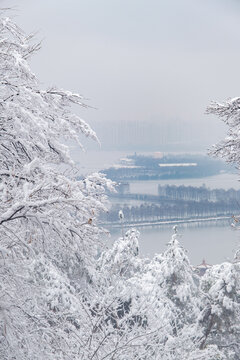
[{"label": "faint hazy city skyline on the horizon beyond the lake", "polygon": [[[201,127],[198,123],[184,121],[127,121],[93,122],[101,142],[102,150],[109,151],[169,151],[201,152],[207,154],[213,142],[224,136],[220,123],[218,131],[209,123]],[[201,132],[202,136],[199,136]],[[88,150],[97,150],[98,144],[84,141]]]}]

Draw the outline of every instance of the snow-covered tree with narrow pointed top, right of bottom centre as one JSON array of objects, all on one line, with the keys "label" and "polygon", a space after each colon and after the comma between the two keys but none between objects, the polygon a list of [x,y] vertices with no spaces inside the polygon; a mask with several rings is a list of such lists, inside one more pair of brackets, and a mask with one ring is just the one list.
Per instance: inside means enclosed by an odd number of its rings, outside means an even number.
[{"label": "snow-covered tree with narrow pointed top, right of bottom centre", "polygon": [[[167,331],[162,339],[162,358],[176,358],[185,351],[198,348],[197,318],[199,315],[198,279],[190,265],[186,250],[179,243],[177,230],[167,250],[156,255],[148,265],[146,283],[157,315],[164,319]],[[163,320],[161,320],[163,321]],[[166,357],[168,359],[168,357]]]}]

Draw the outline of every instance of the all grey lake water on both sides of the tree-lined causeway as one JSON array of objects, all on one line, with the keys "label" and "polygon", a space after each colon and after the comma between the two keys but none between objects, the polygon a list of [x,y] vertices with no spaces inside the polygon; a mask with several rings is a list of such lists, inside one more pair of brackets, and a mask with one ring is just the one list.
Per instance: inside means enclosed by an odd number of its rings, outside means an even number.
[{"label": "all grey lake water on both sides of the tree-lined causeway", "polygon": [[[154,181],[134,181],[130,182],[130,192],[139,194],[157,195],[158,184],[165,185],[192,185],[202,186],[203,184],[210,189],[240,189],[237,175],[221,174],[201,179],[181,179],[181,180],[154,180]],[[126,200],[114,200],[119,203],[119,208],[126,203]],[[137,201],[128,205],[137,205]],[[139,204],[138,204],[139,205]],[[210,264],[217,264],[225,260],[233,259],[234,253],[240,246],[240,230],[231,227],[231,219],[225,222],[206,222],[192,225],[179,225],[181,234],[180,242],[188,250],[190,261],[193,265],[200,264],[204,258]],[[166,249],[166,244],[172,236],[172,226],[154,226],[139,229],[140,252],[144,256],[152,257],[155,253],[161,253]],[[121,236],[120,229],[110,229],[112,241]]]}]

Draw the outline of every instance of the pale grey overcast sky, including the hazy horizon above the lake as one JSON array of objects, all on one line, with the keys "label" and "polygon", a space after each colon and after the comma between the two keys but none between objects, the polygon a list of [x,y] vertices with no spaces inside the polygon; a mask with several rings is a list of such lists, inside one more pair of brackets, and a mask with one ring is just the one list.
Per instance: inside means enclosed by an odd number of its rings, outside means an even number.
[{"label": "pale grey overcast sky, including the hazy horizon above the lake", "polygon": [[211,100],[239,96],[239,1],[1,3],[16,5],[18,24],[43,39],[32,60],[43,85],[80,92],[97,108],[82,116],[103,148],[203,150],[223,136],[204,112]]}]

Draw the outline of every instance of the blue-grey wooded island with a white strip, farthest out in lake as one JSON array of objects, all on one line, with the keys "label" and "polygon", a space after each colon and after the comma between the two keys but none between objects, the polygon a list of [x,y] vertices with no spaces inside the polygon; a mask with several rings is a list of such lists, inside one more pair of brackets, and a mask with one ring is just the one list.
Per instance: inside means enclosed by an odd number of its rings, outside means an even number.
[{"label": "blue-grey wooded island with a white strip, farthest out in lake", "polygon": [[164,155],[160,152],[152,156],[135,153],[103,170],[114,181],[203,178],[229,171],[229,165],[208,156]]}]

